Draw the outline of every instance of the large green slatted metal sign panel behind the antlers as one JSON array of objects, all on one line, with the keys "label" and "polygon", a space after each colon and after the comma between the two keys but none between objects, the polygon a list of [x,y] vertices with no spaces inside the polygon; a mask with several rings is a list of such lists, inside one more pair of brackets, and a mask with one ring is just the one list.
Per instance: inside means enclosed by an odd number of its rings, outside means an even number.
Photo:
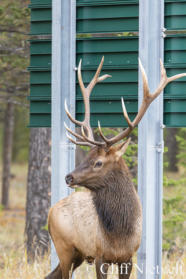
[{"label": "large green slatted metal sign panel behind the antlers", "polygon": [[[138,111],[139,1],[77,1],[76,67],[82,59],[85,87],[93,78],[104,55],[101,74],[109,74],[93,88],[90,96],[91,126],[127,126],[121,97],[133,120]],[[51,0],[32,0],[30,35],[51,35]],[[165,0],[167,30],[186,30],[186,1]],[[98,34],[99,33],[99,34]],[[101,33],[101,35],[100,35]],[[114,34],[117,33],[117,34]],[[82,35],[79,35],[82,34]],[[83,35],[84,34],[84,35]],[[116,36],[117,35],[117,36]],[[51,126],[51,39],[30,41],[30,125]],[[164,67],[167,76],[186,71],[186,35],[164,38]],[[76,78],[76,119],[84,120],[84,103]],[[164,124],[186,126],[186,78],[164,89]]]}]

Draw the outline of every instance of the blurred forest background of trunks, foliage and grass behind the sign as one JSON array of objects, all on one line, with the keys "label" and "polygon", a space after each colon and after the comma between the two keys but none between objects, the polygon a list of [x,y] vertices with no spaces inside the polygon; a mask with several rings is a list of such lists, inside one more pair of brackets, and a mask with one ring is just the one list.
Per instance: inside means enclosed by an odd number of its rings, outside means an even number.
[{"label": "blurred forest background of trunks, foliage and grass behind the sign", "polygon": [[[46,223],[51,195],[51,129],[26,128],[29,124],[27,39],[35,38],[27,36],[28,4],[27,0],[0,2],[0,278],[3,279],[11,278],[8,272],[15,274],[15,278],[27,278],[28,274],[39,278],[42,268],[43,274],[50,270]],[[97,133],[95,129],[95,139],[99,141]],[[104,133],[111,137],[118,129],[105,128]],[[164,257],[176,253],[176,257],[186,261],[182,257],[186,249],[186,128],[164,129],[164,141]],[[86,153],[86,148],[77,147],[76,166]],[[124,158],[137,188],[137,129]]]}]

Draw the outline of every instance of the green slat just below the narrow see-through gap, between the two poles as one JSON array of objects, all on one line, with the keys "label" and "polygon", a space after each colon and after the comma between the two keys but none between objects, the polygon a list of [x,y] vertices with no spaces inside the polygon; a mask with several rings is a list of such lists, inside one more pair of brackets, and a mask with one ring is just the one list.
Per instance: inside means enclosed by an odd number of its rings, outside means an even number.
[{"label": "green slat just below the narrow see-through gap, between the two poles", "polygon": [[76,53],[138,51],[138,46],[138,36],[76,39]]}]

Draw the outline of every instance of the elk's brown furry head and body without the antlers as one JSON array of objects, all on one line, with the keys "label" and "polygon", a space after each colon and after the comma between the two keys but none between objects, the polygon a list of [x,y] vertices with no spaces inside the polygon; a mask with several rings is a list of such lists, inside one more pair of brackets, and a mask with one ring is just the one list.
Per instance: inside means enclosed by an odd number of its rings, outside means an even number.
[{"label": "elk's brown furry head and body without the antlers", "polygon": [[84,186],[90,193],[75,192],[49,211],[48,227],[60,267],[46,279],[69,279],[72,264],[75,269],[83,260],[96,259],[98,279],[107,277],[100,272],[102,263],[132,263],[141,240],[142,208],[128,166],[120,157],[128,142],[108,152],[91,148],[82,164],[66,176],[71,177],[71,188]]}]

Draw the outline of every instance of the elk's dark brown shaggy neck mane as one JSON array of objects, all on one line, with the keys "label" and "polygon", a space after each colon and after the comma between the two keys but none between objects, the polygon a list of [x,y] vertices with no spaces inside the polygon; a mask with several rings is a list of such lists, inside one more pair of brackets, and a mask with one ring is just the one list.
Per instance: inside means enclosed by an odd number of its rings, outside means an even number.
[{"label": "elk's dark brown shaggy neck mane", "polygon": [[[138,212],[137,193],[128,166],[122,158],[117,169],[110,170],[99,191],[91,191],[92,202],[100,226],[106,233],[117,236],[130,235]],[[137,210],[136,210],[137,209]]]}]

